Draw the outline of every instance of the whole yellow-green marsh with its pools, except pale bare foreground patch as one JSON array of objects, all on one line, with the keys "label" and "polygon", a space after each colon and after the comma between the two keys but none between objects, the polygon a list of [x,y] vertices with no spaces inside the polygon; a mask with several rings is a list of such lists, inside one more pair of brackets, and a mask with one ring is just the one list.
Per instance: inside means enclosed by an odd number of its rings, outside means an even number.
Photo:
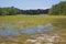
[{"label": "whole yellow-green marsh with its pools, except pale bare foreground patch", "polygon": [[[58,34],[61,41],[66,41],[65,20],[65,15],[0,16],[0,42],[4,44],[24,44],[31,35],[41,36],[42,33],[51,36]],[[44,41],[42,41],[42,44],[44,44]]]}]

